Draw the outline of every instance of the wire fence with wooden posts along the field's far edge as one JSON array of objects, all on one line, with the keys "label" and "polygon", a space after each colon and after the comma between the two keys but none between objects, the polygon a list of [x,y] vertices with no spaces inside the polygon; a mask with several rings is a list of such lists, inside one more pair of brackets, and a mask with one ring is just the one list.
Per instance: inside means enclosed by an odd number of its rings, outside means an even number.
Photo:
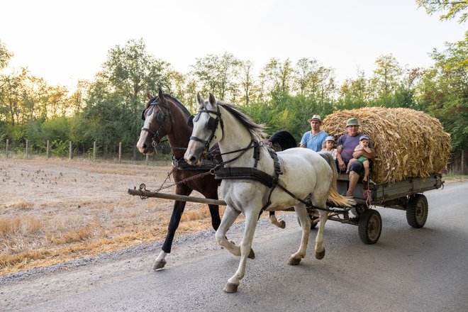
[{"label": "wire fence with wooden posts along the field's far edge", "polygon": [[141,154],[135,147],[124,147],[122,143],[118,143],[118,147],[106,148],[106,152],[103,151],[96,141],[93,146],[89,149],[79,149],[77,145],[74,145],[71,141],[67,141],[67,144],[56,142],[51,143],[47,140],[43,144],[31,144],[28,140],[24,143],[18,143],[6,139],[3,143],[0,143],[0,157],[3,158],[16,158],[16,159],[28,159],[33,157],[45,157],[49,158],[68,158],[91,160],[94,162],[99,161],[110,161],[110,162],[134,162],[134,163],[145,163],[149,165],[150,162],[160,162],[165,160],[171,160],[171,149],[167,145],[158,146],[151,155]]}]

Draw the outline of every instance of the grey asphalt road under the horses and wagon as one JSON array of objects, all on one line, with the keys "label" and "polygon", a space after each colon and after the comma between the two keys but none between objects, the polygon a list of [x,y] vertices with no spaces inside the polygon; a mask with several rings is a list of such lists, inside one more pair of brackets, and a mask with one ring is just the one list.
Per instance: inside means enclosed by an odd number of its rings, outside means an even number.
[{"label": "grey asphalt road under the horses and wagon", "polygon": [[[1,311],[468,311],[468,182],[428,191],[424,228],[404,211],[377,208],[379,242],[364,245],[357,227],[329,221],[326,255],[299,266],[286,260],[299,247],[294,214],[286,229],[261,220],[255,260],[236,294],[222,289],[238,259],[213,232],[180,238],[164,270],[152,272],[160,242],[148,250],[80,267],[0,280]],[[242,225],[228,232],[240,241]]]}]

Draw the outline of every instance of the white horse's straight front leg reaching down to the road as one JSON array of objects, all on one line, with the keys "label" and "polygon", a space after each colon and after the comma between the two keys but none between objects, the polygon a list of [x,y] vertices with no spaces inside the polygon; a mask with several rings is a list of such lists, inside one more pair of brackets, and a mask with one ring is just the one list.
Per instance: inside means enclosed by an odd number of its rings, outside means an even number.
[{"label": "white horse's straight front leg reaching down to the road", "polygon": [[[223,218],[224,220],[224,218]],[[221,222],[222,225],[222,222]],[[240,262],[238,270],[235,272],[233,277],[228,279],[228,284],[224,286],[223,291],[227,293],[234,293],[238,291],[240,280],[245,275],[245,264],[247,264],[247,256],[252,252],[252,240],[255,234],[255,228],[257,227],[257,213],[253,211],[247,211],[245,213],[245,230],[242,244],[240,245]],[[310,228],[310,225],[309,225]]]}]

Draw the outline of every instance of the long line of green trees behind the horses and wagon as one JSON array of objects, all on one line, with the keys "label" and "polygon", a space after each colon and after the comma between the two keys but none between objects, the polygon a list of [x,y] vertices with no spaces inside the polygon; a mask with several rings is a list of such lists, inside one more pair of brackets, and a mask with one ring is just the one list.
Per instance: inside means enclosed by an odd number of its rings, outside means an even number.
[{"label": "long line of green trees behind the horses and wagon", "polygon": [[[169,62],[151,55],[144,40],[128,40],[108,51],[91,81],[67,87],[50,86],[22,68],[0,74],[0,144],[6,138],[30,148],[72,141],[86,152],[97,141],[101,152],[115,152],[118,143],[135,155],[147,91],[161,88],[194,113],[196,92],[212,92],[237,104],[268,133],[289,130],[299,140],[310,130],[306,120],[335,110],[368,106],[405,107],[438,118],[450,133],[452,150],[467,150],[468,32],[464,40],[430,52],[429,68],[402,66],[393,55],[375,60],[374,71],[338,83],[333,68],[304,57],[297,62],[271,58],[256,68],[228,52],[196,59],[191,71],[177,72]],[[0,41],[0,70],[13,57]]]}]

